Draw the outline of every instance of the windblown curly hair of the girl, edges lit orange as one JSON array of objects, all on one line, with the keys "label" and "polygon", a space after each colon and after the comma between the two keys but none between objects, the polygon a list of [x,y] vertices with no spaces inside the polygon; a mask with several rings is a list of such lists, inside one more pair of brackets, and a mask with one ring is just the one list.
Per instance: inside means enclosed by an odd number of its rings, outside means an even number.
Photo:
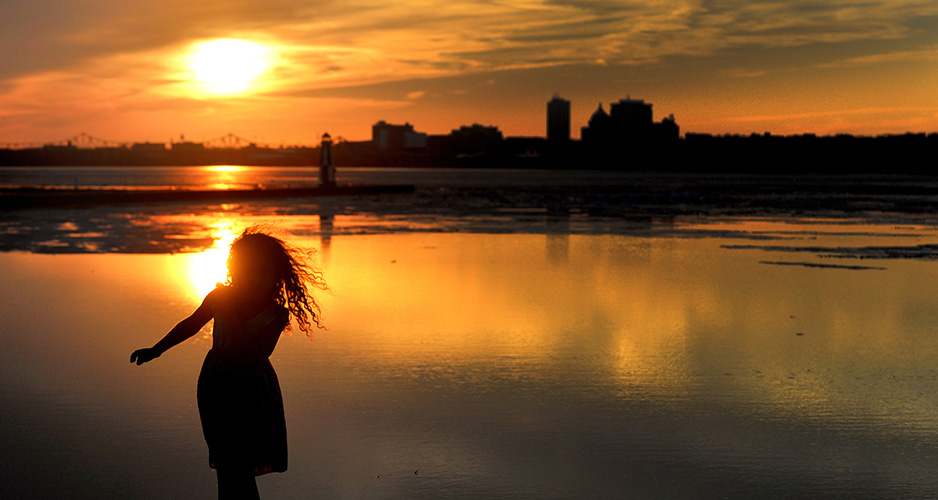
[{"label": "windblown curly hair of the girl, edges lit orange", "polygon": [[312,325],[325,330],[319,302],[310,293],[308,286],[328,290],[322,272],[308,263],[309,256],[280,238],[271,236],[258,226],[251,226],[231,243],[228,254],[228,283],[231,282],[231,255],[235,250],[250,250],[267,259],[277,276],[273,297],[277,304],[289,311],[296,319],[300,330],[312,338]]}]

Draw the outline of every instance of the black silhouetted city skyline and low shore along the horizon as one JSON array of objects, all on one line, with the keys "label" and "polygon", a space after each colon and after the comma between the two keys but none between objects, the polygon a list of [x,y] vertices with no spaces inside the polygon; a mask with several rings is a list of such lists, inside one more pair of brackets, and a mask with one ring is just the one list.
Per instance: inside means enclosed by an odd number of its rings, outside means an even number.
[{"label": "black silhouetted city skyline and low shore along the horizon", "polygon": [[[602,102],[580,127],[571,102],[555,94],[545,103],[544,133],[506,136],[497,125],[461,125],[449,134],[428,134],[415,125],[379,120],[371,138],[334,141],[339,166],[493,167],[566,170],[927,172],[922,163],[894,166],[900,155],[918,157],[938,147],[938,133],[884,136],[805,133],[712,135],[684,132],[673,114],[655,121],[654,104],[626,98]],[[608,110],[608,111],[607,111]],[[579,128],[580,138],[571,131]],[[330,146],[332,136],[328,138]],[[0,165],[320,165],[320,146],[260,145],[228,133],[207,142],[120,144],[82,133],[80,145],[0,148]],[[100,146],[95,147],[96,144]],[[83,146],[83,147],[80,147]],[[329,155],[332,158],[332,155]]]}]

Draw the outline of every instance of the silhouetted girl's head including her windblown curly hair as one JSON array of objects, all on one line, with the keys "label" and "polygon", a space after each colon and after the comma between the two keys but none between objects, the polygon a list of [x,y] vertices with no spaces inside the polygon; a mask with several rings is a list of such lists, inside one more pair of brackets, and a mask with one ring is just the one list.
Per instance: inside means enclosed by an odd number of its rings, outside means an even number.
[{"label": "silhouetted girl's head including her windblown curly hair", "polygon": [[319,322],[319,304],[307,285],[327,289],[322,273],[311,270],[306,256],[283,240],[261,232],[257,227],[245,229],[231,244],[228,253],[228,284],[255,298],[270,297],[286,307],[307,334],[310,321]]}]

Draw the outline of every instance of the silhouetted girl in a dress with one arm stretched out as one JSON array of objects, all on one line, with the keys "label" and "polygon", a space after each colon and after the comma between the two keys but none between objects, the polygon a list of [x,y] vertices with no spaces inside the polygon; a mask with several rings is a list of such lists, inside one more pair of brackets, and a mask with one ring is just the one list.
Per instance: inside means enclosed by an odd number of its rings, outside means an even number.
[{"label": "silhouetted girl in a dress with one arm stretched out", "polygon": [[301,253],[256,228],[231,244],[227,266],[226,283],[192,315],[153,347],[130,355],[131,363],[151,361],[215,320],[198,404],[220,500],[258,498],[256,476],[287,470],[283,398],[268,357],[291,316],[307,334],[313,324],[322,328],[307,285],[326,289],[322,274]]}]

